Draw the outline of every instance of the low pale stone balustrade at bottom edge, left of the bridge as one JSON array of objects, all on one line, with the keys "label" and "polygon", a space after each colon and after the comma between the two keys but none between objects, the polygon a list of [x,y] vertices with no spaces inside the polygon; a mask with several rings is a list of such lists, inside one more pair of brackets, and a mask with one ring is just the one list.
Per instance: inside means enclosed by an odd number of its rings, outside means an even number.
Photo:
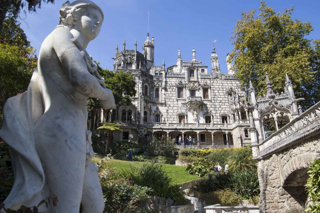
[{"label": "low pale stone balustrade at bottom edge, left of the bridge", "polygon": [[204,207],[206,213],[259,213],[259,206],[221,206],[220,204]]}]

